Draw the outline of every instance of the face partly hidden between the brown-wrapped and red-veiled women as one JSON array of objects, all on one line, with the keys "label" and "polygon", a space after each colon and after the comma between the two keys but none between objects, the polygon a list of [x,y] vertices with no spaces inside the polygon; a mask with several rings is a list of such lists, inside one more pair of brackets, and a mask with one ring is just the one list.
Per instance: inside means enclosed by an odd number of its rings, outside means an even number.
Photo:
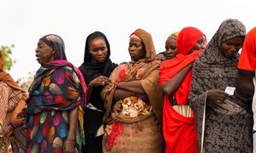
[{"label": "face partly hidden between the brown-wrapped and red-veiled women", "polygon": [[166,59],[172,59],[177,54],[176,39],[169,37],[166,40]]}]

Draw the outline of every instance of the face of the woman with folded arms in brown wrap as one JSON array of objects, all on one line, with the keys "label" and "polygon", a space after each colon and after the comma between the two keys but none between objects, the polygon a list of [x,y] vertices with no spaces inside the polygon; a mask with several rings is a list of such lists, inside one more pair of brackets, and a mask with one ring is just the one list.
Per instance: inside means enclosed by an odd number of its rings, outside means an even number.
[{"label": "face of the woman with folded arms in brown wrap", "polygon": [[131,59],[136,61],[138,59],[143,59],[146,55],[146,50],[144,48],[143,42],[141,42],[136,37],[131,37],[129,42],[129,54]]}]

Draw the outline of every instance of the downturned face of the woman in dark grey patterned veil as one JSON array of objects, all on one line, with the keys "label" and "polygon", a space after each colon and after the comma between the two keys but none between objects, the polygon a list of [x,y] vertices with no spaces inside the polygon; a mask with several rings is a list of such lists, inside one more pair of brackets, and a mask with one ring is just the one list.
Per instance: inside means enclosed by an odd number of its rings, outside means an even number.
[{"label": "downturned face of the woman in dark grey patterned veil", "polygon": [[242,46],[242,37],[234,37],[230,40],[221,43],[221,53],[228,59],[236,57],[239,49]]}]

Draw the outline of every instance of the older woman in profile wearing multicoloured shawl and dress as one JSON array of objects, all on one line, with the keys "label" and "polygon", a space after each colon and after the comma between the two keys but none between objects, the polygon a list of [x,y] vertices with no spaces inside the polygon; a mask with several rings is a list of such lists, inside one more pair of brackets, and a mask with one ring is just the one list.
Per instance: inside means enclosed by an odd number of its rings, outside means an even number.
[{"label": "older woman in profile wearing multicoloured shawl and dress", "polygon": [[84,78],[67,62],[64,42],[57,35],[41,37],[36,56],[41,67],[26,100],[26,151],[79,150],[84,143]]}]

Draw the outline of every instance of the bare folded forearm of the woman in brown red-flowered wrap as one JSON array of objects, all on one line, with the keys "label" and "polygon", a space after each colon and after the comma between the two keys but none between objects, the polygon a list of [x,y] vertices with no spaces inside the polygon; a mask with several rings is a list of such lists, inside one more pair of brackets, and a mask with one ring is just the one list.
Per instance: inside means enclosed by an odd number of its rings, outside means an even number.
[{"label": "bare folded forearm of the woman in brown red-flowered wrap", "polygon": [[127,90],[133,94],[145,94],[141,81],[119,82],[117,89]]}]

